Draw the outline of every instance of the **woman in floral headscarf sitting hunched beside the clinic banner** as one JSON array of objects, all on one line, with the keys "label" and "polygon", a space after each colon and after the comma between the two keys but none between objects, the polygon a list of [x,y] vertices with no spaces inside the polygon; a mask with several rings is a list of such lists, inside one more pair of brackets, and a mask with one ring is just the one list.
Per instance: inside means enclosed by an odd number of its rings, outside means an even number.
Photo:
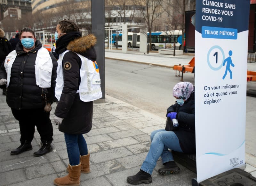
[{"label": "woman in floral headscarf sitting hunched beside the clinic banner", "polygon": [[164,165],[164,168],[158,169],[160,175],[179,173],[180,168],[168,148],[183,153],[196,152],[194,87],[190,82],[179,82],[174,86],[172,95],[177,101],[167,109],[166,117],[178,120],[178,130],[159,129],[151,133],[148,155],[140,171],[136,175],[128,176],[127,182],[151,183],[151,175],[160,156]]}]

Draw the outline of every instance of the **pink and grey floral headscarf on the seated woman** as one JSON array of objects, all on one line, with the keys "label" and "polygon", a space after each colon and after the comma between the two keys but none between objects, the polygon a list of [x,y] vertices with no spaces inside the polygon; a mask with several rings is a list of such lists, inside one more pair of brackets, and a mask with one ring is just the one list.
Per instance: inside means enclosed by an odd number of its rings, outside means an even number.
[{"label": "pink and grey floral headscarf on the seated woman", "polygon": [[173,87],[172,95],[187,101],[192,92],[194,92],[194,86],[192,83],[179,82]]}]

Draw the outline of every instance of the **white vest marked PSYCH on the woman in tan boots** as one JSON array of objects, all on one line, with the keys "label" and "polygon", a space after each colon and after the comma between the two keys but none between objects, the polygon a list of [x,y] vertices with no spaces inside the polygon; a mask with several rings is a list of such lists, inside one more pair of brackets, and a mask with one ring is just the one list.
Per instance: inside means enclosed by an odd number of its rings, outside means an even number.
[{"label": "white vest marked PSYCH on the woman in tan boots", "polygon": [[[59,101],[64,86],[62,60],[67,52],[69,52],[69,50],[61,53],[58,60],[55,97]],[[96,61],[91,61],[80,54],[77,55],[82,61],[80,68],[81,82],[79,85],[79,90],[77,90],[77,93],[79,92],[80,99],[84,102],[100,99],[102,97],[102,92],[100,88],[100,73]]]}]

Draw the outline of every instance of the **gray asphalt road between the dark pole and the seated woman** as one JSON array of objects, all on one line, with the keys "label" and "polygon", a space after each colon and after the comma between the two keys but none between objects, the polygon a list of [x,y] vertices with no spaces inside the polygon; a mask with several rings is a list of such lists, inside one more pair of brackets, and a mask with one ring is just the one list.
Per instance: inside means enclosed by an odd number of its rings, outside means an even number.
[{"label": "gray asphalt road between the dark pole and the seated woman", "polygon": [[[194,84],[194,75],[183,81]],[[105,93],[163,118],[176,100],[172,88],[178,82],[171,68],[105,60]]]}]

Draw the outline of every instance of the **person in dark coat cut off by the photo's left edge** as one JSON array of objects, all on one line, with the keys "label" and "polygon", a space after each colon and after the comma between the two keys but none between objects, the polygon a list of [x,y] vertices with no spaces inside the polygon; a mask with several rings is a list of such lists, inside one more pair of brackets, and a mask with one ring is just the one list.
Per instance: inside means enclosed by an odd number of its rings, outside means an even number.
[{"label": "person in dark coat cut off by the photo's left edge", "polygon": [[[0,66],[6,56],[12,51],[12,45],[8,39],[4,37],[4,34],[4,30],[0,28]],[[3,88],[3,95],[6,95],[6,87]]]}]

